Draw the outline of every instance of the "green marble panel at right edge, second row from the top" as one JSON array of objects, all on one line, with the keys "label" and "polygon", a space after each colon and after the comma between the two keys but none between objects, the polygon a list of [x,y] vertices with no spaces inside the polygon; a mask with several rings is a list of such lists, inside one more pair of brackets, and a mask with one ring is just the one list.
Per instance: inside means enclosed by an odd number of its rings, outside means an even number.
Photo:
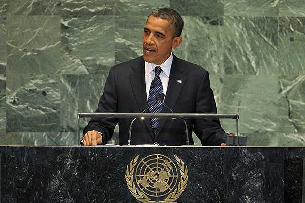
[{"label": "green marble panel at right edge, second row from the top", "polygon": [[305,17],[279,18],[279,73],[305,74]]}]

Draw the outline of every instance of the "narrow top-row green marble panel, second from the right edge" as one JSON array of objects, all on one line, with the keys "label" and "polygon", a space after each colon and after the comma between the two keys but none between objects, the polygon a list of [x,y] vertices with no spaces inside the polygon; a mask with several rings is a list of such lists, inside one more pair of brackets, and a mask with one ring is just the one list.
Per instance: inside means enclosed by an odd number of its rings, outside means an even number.
[{"label": "narrow top-row green marble panel, second from the right edge", "polygon": [[277,16],[274,0],[224,0],[225,16]]}]

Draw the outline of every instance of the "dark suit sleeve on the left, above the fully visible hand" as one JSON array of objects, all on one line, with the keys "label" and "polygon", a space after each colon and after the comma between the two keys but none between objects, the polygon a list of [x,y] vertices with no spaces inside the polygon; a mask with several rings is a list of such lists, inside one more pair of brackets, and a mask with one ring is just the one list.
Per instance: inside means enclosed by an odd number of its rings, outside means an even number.
[{"label": "dark suit sleeve on the left, above the fully visible hand", "polygon": [[[95,112],[117,112],[117,94],[113,69],[109,72],[103,95]],[[103,134],[102,144],[104,145],[111,139],[117,121],[117,118],[92,118],[84,128],[84,134],[92,130],[101,132]]]}]

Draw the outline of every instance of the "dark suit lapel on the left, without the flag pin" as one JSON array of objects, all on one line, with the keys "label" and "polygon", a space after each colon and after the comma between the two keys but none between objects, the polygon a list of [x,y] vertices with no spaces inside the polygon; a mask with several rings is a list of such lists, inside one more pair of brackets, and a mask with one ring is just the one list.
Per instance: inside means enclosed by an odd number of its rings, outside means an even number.
[{"label": "dark suit lapel on the left, without the flag pin", "polygon": [[[139,112],[142,112],[148,107],[147,95],[146,95],[146,84],[145,84],[145,63],[143,57],[138,63],[132,66],[133,72],[129,75],[130,84],[134,97],[137,101]],[[144,120],[150,135],[154,138],[154,132],[152,130],[150,119]]]}]

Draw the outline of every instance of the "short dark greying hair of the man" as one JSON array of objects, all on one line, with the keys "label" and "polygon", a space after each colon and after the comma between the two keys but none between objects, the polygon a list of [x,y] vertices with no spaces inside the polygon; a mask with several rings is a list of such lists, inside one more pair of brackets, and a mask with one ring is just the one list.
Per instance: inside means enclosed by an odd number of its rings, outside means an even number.
[{"label": "short dark greying hair of the man", "polygon": [[[172,8],[159,8],[153,11],[149,16],[154,16],[162,20],[168,20],[171,24],[171,27],[174,31],[174,37],[181,35],[183,30],[183,20],[180,14]],[[148,16],[148,18],[149,18]],[[148,20],[147,18],[147,20]]]}]

